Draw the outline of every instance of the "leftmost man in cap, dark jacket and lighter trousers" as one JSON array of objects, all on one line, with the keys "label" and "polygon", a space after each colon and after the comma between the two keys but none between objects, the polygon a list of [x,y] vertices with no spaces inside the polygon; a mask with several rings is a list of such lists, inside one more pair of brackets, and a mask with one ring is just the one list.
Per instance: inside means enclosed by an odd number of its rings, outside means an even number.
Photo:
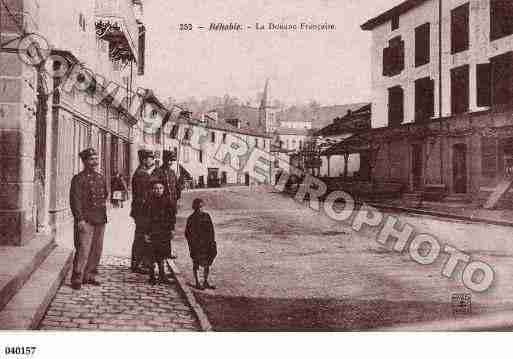
[{"label": "leftmost man in cap, dark jacket and lighter trousers", "polygon": [[98,154],[95,149],[87,148],[79,156],[84,170],[73,176],[70,188],[70,206],[75,229],[71,287],[77,290],[82,284],[100,285],[95,274],[102,255],[108,198],[105,178],[96,172]]}]

